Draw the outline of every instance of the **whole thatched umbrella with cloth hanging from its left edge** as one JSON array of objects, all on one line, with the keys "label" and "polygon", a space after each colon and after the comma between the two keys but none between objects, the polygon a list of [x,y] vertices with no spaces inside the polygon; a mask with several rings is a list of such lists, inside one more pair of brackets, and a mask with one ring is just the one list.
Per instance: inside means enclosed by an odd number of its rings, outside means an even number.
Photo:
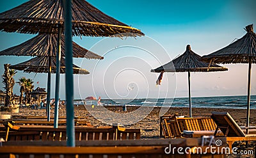
[{"label": "whole thatched umbrella with cloth hanging from its left edge", "polygon": [[[201,56],[191,51],[190,45],[187,45],[186,51],[178,58],[173,59],[169,63],[151,70],[151,72],[161,72],[159,79],[163,77],[164,72],[188,72],[188,95],[189,95],[189,116],[192,117],[191,111],[191,92],[190,92],[190,72],[216,72],[227,71],[225,67],[219,65],[210,65],[204,61],[200,61]],[[157,79],[157,83],[161,83]]]}]

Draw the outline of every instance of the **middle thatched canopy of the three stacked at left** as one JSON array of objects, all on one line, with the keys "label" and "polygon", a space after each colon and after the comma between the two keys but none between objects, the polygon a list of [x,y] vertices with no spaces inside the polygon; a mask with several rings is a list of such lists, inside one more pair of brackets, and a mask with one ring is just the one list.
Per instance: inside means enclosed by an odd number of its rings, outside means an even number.
[{"label": "middle thatched canopy of the three stacked at left", "polygon": [[[64,35],[61,43],[65,43]],[[54,34],[37,35],[30,40],[0,52],[0,56],[57,56],[58,36]],[[102,56],[84,49],[75,42],[73,43],[73,57],[87,59],[103,59]],[[49,54],[49,52],[51,54]],[[61,45],[61,56],[65,56],[65,47]]]}]

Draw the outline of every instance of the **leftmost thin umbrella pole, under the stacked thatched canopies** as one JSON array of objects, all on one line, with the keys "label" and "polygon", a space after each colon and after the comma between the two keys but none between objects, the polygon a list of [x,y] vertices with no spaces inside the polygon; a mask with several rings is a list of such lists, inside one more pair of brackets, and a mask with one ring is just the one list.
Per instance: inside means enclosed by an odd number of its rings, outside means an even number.
[{"label": "leftmost thin umbrella pole, under the stacked thatched canopies", "polygon": [[50,101],[51,101],[51,72],[52,72],[52,66],[51,66],[51,56],[50,52],[48,54],[48,65],[49,65],[49,70],[48,70],[48,80],[47,80],[47,101],[46,101],[46,115],[47,115],[47,122],[50,122]]}]

